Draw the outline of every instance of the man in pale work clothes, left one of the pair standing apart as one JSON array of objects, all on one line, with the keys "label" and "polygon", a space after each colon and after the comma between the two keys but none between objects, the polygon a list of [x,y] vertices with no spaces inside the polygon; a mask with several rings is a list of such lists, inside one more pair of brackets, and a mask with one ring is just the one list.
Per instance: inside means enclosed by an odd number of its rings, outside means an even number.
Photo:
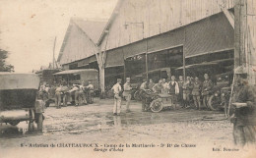
[{"label": "man in pale work clothes, left one of the pair standing apart", "polygon": [[122,91],[121,87],[122,79],[117,79],[116,84],[111,88],[114,91],[114,107],[113,107],[113,115],[120,115],[121,112],[121,101],[122,98],[120,93]]}]

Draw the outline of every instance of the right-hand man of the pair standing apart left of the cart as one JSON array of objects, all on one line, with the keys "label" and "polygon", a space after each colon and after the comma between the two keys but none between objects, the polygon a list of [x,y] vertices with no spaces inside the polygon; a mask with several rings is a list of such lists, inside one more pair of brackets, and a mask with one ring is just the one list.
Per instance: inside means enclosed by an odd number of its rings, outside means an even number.
[{"label": "right-hand man of the pair standing apart left of the cart", "polygon": [[132,92],[132,86],[131,86],[131,79],[126,78],[126,82],[123,85],[123,96],[126,99],[126,112],[130,112],[130,102],[131,102],[131,92]]}]

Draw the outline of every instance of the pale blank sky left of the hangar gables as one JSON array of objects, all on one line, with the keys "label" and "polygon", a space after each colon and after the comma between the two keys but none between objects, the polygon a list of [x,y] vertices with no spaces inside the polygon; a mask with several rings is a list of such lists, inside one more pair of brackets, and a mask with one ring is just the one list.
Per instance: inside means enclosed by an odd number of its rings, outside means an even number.
[{"label": "pale blank sky left of the hangar gables", "polygon": [[15,72],[29,73],[52,62],[70,18],[107,20],[117,0],[0,0],[0,48]]}]

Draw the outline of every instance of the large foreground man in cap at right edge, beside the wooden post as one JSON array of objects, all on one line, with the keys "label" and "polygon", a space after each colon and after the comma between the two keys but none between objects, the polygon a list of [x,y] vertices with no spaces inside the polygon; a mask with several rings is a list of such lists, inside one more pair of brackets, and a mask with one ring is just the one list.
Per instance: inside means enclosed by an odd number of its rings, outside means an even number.
[{"label": "large foreground man in cap at right edge, beside the wooden post", "polygon": [[234,143],[244,146],[256,142],[256,97],[255,87],[249,85],[247,73],[243,67],[234,70],[237,85],[234,87],[234,114],[230,117],[233,123]]}]

